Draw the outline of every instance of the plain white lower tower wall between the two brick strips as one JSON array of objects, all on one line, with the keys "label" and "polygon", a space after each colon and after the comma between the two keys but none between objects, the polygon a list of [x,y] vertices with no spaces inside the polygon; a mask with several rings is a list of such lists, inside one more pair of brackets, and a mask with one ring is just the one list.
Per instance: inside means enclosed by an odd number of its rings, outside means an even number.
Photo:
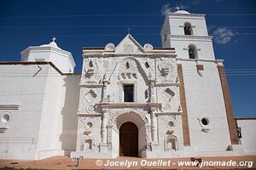
[{"label": "plain white lower tower wall between the two brick strips", "polygon": [[[195,151],[226,150],[230,144],[230,132],[217,64],[201,62],[204,71],[200,76],[196,62],[181,63],[191,146],[195,147]],[[201,122],[204,117],[208,125]]]}]

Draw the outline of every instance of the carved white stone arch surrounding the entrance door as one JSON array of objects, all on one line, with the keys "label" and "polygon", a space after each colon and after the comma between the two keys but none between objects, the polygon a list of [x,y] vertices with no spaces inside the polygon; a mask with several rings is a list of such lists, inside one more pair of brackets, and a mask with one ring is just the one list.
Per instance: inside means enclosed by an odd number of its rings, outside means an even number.
[{"label": "carved white stone arch surrounding the entrance door", "polygon": [[108,121],[108,150],[119,155],[119,129],[125,122],[132,122],[138,129],[138,156],[143,150],[151,150],[150,125],[146,113],[126,108],[112,112]]}]

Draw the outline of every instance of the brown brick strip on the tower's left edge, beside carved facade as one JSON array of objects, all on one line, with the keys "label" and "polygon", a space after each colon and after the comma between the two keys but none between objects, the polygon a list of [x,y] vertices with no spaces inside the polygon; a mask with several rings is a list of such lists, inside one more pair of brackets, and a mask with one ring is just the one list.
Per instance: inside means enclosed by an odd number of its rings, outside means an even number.
[{"label": "brown brick strip on the tower's left edge, beside carved facade", "polygon": [[182,122],[183,122],[183,144],[184,146],[190,145],[189,138],[189,117],[187,111],[187,103],[186,103],[186,95],[184,88],[184,80],[183,80],[183,66],[181,64],[177,65],[177,75],[180,81],[179,95],[180,95],[180,105],[183,109],[182,114]]}]

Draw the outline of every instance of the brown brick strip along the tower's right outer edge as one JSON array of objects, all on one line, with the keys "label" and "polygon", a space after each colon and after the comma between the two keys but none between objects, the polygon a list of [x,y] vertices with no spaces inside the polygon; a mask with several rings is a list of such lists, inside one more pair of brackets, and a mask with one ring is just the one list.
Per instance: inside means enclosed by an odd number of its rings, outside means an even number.
[{"label": "brown brick strip along the tower's right outer edge", "polygon": [[219,78],[221,82],[221,87],[223,90],[224,104],[225,104],[225,109],[226,109],[226,114],[228,119],[228,125],[230,129],[231,144],[239,144],[239,139],[236,133],[236,122],[235,122],[235,117],[232,110],[232,103],[230,99],[230,89],[229,89],[229,85],[227,82],[223,65],[218,65],[218,73],[219,73]]}]

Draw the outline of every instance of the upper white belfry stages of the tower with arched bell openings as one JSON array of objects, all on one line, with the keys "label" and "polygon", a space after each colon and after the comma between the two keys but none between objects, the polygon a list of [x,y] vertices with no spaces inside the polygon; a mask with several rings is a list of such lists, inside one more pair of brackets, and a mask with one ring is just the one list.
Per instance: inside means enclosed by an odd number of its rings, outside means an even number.
[{"label": "upper white belfry stages of the tower with arched bell openings", "polygon": [[205,14],[190,14],[184,10],[166,14],[160,34],[162,47],[175,48],[177,58],[215,59]]}]

